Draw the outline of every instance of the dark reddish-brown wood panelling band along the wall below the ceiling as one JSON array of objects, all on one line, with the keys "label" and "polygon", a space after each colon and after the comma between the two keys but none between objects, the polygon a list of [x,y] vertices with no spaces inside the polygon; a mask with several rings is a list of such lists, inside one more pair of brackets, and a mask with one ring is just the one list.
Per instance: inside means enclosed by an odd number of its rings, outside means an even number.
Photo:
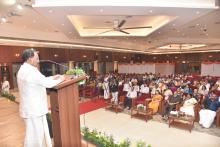
[{"label": "dark reddish-brown wood panelling band along the wall below the ceiling", "polygon": [[[6,63],[9,65],[10,74],[12,73],[12,64],[21,63],[22,51],[26,48],[24,46],[0,46],[0,64]],[[35,47],[34,47],[35,48]],[[39,51],[41,60],[52,60],[56,62],[92,62],[98,60],[99,62],[113,62],[118,61],[123,63],[145,62],[172,62],[176,64],[176,73],[182,72],[182,64],[185,61],[187,64],[196,62],[201,64],[203,61],[220,62],[220,52],[213,53],[192,53],[192,54],[169,54],[169,55],[142,55],[125,52],[104,52],[96,50],[82,50],[82,49],[58,49],[58,48],[36,48]],[[18,56],[19,54],[19,56]],[[107,57],[108,56],[108,57]],[[12,75],[10,75],[10,83],[12,85]]]}]

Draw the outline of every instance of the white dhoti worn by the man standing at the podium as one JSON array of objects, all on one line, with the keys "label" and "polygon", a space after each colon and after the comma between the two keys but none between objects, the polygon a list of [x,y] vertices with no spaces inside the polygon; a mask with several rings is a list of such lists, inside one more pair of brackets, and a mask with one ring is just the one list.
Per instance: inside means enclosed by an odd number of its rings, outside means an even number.
[{"label": "white dhoti worn by the man standing at the podium", "polygon": [[24,119],[24,147],[52,147],[46,115]]}]

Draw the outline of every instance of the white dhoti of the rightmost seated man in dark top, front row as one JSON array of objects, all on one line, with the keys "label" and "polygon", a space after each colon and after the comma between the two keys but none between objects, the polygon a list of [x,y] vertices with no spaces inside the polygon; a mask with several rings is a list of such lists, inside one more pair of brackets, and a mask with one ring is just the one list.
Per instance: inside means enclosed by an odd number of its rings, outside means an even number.
[{"label": "white dhoti of the rightmost seated man in dark top, front row", "polygon": [[208,109],[202,109],[199,111],[199,124],[201,124],[205,128],[209,128],[216,116],[216,112]]}]

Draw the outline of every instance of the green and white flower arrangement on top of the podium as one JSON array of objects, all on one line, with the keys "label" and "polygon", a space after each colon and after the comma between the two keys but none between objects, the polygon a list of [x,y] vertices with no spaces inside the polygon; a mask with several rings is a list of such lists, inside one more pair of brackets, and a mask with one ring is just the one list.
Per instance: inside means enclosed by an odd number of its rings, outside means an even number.
[{"label": "green and white flower arrangement on top of the podium", "polygon": [[[68,71],[66,71],[66,75],[72,75],[73,78],[78,78],[80,76],[86,75],[86,73],[83,71],[82,68],[76,67],[76,68],[69,69]],[[86,80],[79,81],[79,85],[83,85],[85,83],[86,83]]]}]

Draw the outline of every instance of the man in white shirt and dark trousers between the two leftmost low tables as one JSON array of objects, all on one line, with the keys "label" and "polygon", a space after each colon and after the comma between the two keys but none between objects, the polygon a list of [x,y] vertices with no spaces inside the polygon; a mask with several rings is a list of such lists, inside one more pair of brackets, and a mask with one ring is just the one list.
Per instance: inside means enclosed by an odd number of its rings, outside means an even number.
[{"label": "man in white shirt and dark trousers between the two leftmost low tables", "polygon": [[130,110],[132,99],[137,98],[137,91],[134,90],[134,87],[131,87],[131,90],[128,91],[127,96],[124,101],[124,108]]}]

